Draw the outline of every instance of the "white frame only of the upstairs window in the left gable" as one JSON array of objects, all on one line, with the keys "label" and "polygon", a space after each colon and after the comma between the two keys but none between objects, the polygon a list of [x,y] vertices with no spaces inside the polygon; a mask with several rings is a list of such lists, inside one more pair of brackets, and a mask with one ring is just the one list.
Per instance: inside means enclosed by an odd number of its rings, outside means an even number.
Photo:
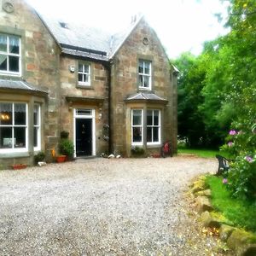
[{"label": "white frame only of the upstairs window in the left gable", "polygon": [[[1,33],[1,35],[4,35],[4,36],[7,37],[7,51],[6,52],[0,51],[1,55],[7,55],[7,71],[0,70],[0,74],[20,77],[21,76],[21,39],[18,36],[15,36],[15,35],[9,35],[9,34],[3,34],[3,33]],[[19,54],[14,54],[14,53],[9,52],[9,37],[19,38]],[[19,57],[19,67],[20,67],[19,72],[9,71],[9,56]]]}]

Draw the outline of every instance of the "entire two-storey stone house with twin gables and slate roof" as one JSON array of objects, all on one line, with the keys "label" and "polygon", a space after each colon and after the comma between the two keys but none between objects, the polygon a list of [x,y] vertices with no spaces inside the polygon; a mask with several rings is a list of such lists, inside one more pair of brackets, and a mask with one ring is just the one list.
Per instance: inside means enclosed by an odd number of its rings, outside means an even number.
[{"label": "entire two-storey stone house with twin gables and slate roof", "polygon": [[61,131],[74,157],[177,150],[177,69],[143,17],[111,35],[0,5],[1,167],[53,160]]}]

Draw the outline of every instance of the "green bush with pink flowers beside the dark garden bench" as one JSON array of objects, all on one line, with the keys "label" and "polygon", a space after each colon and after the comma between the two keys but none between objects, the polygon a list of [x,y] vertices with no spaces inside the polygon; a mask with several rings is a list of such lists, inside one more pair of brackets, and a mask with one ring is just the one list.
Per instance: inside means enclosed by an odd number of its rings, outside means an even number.
[{"label": "green bush with pink flowers beside the dark garden bench", "polygon": [[245,121],[233,124],[222,147],[230,154],[228,187],[234,196],[256,201],[256,124]]}]

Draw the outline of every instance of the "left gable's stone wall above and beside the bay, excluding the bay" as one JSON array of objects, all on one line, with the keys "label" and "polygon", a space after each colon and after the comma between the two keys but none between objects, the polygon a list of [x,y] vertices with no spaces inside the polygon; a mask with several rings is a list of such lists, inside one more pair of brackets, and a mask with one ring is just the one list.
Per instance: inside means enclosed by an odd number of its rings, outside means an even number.
[{"label": "left gable's stone wall above and beside the bay, excluding the bay", "polygon": [[[42,123],[42,150],[46,150],[48,160],[50,160],[51,148],[55,148],[59,136],[59,56],[61,49],[42,20],[25,1],[12,1],[14,11],[11,13],[3,10],[2,2],[0,2],[0,32],[20,36],[22,74],[21,77],[0,75],[0,78],[25,79],[29,83],[48,90],[47,98],[40,103],[44,109],[44,113],[42,113],[42,120],[44,120]],[[9,92],[9,94],[13,95],[13,92]],[[2,97],[0,99],[4,100]],[[29,102],[27,103],[29,104]],[[28,137],[29,143],[32,143],[30,134]],[[30,159],[27,160],[30,164],[33,152],[29,152],[29,155]],[[14,158],[14,162],[17,161],[18,159]]]}]

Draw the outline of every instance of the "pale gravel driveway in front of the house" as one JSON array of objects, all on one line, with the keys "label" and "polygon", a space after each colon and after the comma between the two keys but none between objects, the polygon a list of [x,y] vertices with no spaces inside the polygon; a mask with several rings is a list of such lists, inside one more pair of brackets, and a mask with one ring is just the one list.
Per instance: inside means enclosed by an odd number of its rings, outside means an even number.
[{"label": "pale gravel driveway in front of the house", "polygon": [[216,169],[179,156],[0,172],[0,255],[217,255],[183,196]]}]

